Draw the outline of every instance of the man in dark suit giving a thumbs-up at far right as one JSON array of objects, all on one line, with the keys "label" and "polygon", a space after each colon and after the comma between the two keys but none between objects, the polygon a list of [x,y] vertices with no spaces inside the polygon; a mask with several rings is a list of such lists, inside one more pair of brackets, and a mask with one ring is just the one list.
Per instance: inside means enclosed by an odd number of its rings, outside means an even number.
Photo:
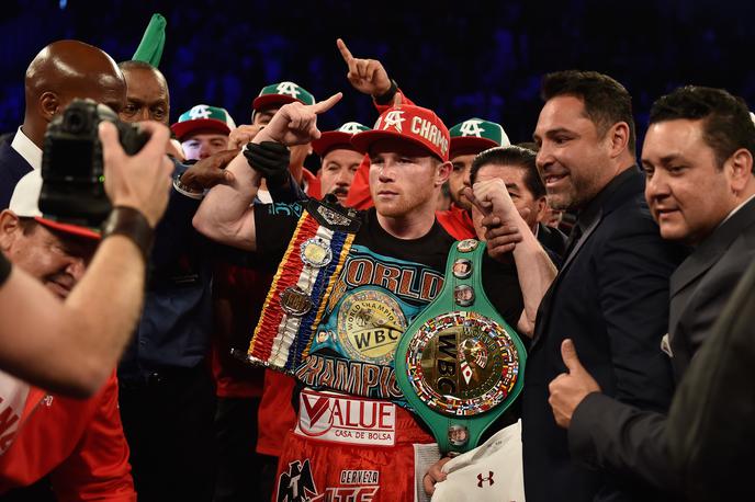
[{"label": "man in dark suit giving a thumbs-up at far right", "polygon": [[[661,236],[694,247],[671,278],[664,340],[679,381],[755,259],[755,126],[744,102],[699,87],[661,98],[650,123],[642,158],[645,197]],[[590,375],[576,354],[570,358],[570,375],[554,381],[551,399],[556,420],[568,427],[573,455],[683,492],[669,470],[665,414],[584,393]]]}]

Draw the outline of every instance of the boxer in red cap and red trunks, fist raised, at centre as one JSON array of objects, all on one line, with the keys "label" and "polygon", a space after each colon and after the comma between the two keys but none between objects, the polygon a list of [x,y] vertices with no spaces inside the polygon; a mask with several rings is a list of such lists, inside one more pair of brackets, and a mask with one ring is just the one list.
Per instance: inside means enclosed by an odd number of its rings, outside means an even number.
[{"label": "boxer in red cap and red trunks, fist raised, at centre", "polygon": [[[289,303],[292,299],[292,288],[298,281],[298,273],[292,274],[290,267],[298,260],[300,253],[308,256],[305,250],[300,251],[298,239],[305,237],[302,232],[311,232],[316,228],[311,226],[312,220],[308,219],[314,216],[308,212],[302,213],[301,204],[250,206],[259,185],[259,174],[253,168],[258,163],[268,167],[274,163],[280,166],[280,169],[285,169],[288,155],[282,145],[307,142],[317,138],[317,113],[328,110],[339,98],[336,95],[313,106],[293,103],[279,110],[270,124],[249,146],[247,156],[252,170],[249,170],[244,157],[234,160],[227,169],[233,172],[236,183],[213,189],[194,218],[196,228],[207,237],[255,251],[259,266],[281,264],[280,279],[273,283],[268,296],[269,301],[258,324],[257,331],[267,333],[264,336],[277,338],[278,331],[290,330],[289,323],[295,321],[294,313],[281,320],[281,305],[289,311],[288,309],[297,304],[295,298],[293,305]],[[426,124],[426,129],[413,130],[409,127],[413,123]],[[403,124],[406,124],[406,127],[403,127]],[[426,132],[425,136],[421,130]],[[329,273],[334,274],[336,283],[333,297],[325,295],[317,300],[323,301],[324,308],[319,321],[313,326],[313,330],[305,328],[304,323],[301,324],[305,330],[301,333],[302,336],[315,338],[308,356],[301,361],[301,365],[296,363],[292,368],[306,387],[298,396],[302,404],[296,430],[289,432],[283,445],[279,464],[278,500],[285,500],[286,497],[291,500],[296,493],[307,497],[326,493],[334,498],[345,497],[347,492],[353,493],[356,487],[343,480],[341,469],[369,472],[369,482],[363,483],[363,487],[357,487],[363,489],[364,494],[375,494],[380,491],[380,497],[386,500],[405,499],[414,494],[416,488],[415,468],[419,466],[415,466],[415,448],[427,448],[427,445],[432,443],[431,436],[419,426],[416,419],[390,401],[402,401],[401,391],[390,385],[392,379],[388,375],[393,365],[391,345],[381,347],[379,354],[373,354],[372,347],[357,347],[348,338],[329,333],[336,333],[335,323],[340,318],[341,309],[346,309],[343,312],[354,309],[353,322],[364,321],[363,317],[356,315],[360,301],[372,301],[375,308],[382,305],[395,315],[396,319],[406,320],[438,294],[440,283],[431,277],[442,277],[448,251],[454,241],[435,218],[438,193],[451,169],[448,162],[448,129],[435,113],[427,109],[398,105],[381,115],[374,130],[356,135],[352,145],[370,156],[370,190],[375,207],[361,214],[343,209],[342,218],[334,219],[359,221],[359,230],[356,231],[353,240],[349,240],[346,249],[337,251],[342,253],[341,256],[331,258],[335,263],[341,263],[343,260],[343,265],[339,267],[339,272],[328,269],[333,271]],[[333,210],[325,206],[318,207],[323,207],[325,214]],[[303,218],[301,221],[309,223],[300,224],[300,214]],[[297,237],[289,243],[294,233]],[[323,235],[328,236],[327,232]],[[336,238],[340,239],[334,236],[334,239]],[[311,244],[316,246],[316,242]],[[359,273],[359,267],[368,266],[368,262],[372,265],[371,271],[386,272]],[[518,263],[525,267],[532,264],[533,262]],[[533,276],[542,272],[536,267],[530,270]],[[407,271],[404,273],[425,284],[426,287],[420,288],[421,295],[401,288],[397,281],[386,282],[382,278],[385,274],[392,276],[394,271]],[[354,282],[353,274],[361,275],[361,279]],[[489,284],[486,290],[494,298],[493,301],[500,309],[503,317],[510,323],[516,323],[522,312],[522,296],[527,303],[527,299],[532,297],[531,292],[519,290],[516,270],[510,265],[502,265],[498,269],[494,266],[491,273],[484,276],[486,284]],[[313,283],[306,284],[303,282],[302,287],[315,287]],[[496,287],[492,287],[492,284]],[[367,285],[367,288],[360,287]],[[314,293],[307,289],[304,294]],[[319,307],[313,306],[312,311],[320,310]],[[379,310],[370,309],[369,312],[371,323],[384,322]],[[401,322],[404,326],[403,321]],[[290,340],[289,335],[285,339]],[[382,353],[385,353],[385,357]],[[320,362],[351,366],[354,369],[369,367],[370,374],[386,376],[385,385],[353,379],[328,381],[324,379],[326,375],[317,369]],[[323,387],[335,392],[324,392]],[[385,417],[390,419],[382,425],[373,423],[370,426],[390,427],[391,434],[370,436],[369,441],[359,442],[340,436],[333,429],[330,434],[319,435],[318,441],[307,437],[307,431],[317,425],[317,419],[313,417],[319,417],[317,413],[312,414],[314,402],[346,407],[357,402],[354,400],[362,402],[361,406],[364,407],[381,407],[386,413]],[[390,458],[391,461],[380,460],[379,457]],[[420,476],[421,474],[424,471],[420,471]]]}]

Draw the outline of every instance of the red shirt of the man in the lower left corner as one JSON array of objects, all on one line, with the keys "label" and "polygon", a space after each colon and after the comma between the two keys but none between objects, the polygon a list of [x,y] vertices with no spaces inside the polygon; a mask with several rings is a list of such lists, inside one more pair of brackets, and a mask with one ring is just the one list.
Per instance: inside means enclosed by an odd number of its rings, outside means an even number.
[{"label": "red shirt of the man in the lower left corner", "polygon": [[[0,385],[0,442],[7,448],[0,453],[0,493],[49,475],[60,501],[136,501],[115,372],[89,399],[48,395],[10,378],[3,374]],[[22,387],[27,390],[14,392]]]}]

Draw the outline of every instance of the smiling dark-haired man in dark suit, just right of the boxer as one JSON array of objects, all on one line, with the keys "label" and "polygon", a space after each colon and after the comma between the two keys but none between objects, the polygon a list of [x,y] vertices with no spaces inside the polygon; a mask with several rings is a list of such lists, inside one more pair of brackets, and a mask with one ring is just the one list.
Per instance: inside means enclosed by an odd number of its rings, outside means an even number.
[{"label": "smiling dark-haired man in dark suit, just right of the boxer", "polygon": [[537,317],[522,392],[525,492],[531,501],[653,500],[646,486],[572,461],[566,431],[548,403],[564,373],[565,339],[604,391],[664,411],[673,391],[660,349],[668,322],[668,277],[679,263],[643,197],[634,164],[631,98],[596,72],[545,76],[534,139],[549,202],[577,210],[562,269]]}]

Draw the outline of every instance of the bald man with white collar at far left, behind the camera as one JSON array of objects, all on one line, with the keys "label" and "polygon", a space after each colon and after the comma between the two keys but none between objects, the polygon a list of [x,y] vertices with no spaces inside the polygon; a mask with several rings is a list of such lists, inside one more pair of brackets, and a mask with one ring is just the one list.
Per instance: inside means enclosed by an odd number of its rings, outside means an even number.
[{"label": "bald man with white collar at far left, behind the camera", "polygon": [[90,98],[116,113],[126,99],[126,82],[115,61],[78,41],[43,48],[26,69],[26,112],[13,141],[0,146],[0,209],[8,207],[15,184],[42,164],[47,124],[75,98]]}]

